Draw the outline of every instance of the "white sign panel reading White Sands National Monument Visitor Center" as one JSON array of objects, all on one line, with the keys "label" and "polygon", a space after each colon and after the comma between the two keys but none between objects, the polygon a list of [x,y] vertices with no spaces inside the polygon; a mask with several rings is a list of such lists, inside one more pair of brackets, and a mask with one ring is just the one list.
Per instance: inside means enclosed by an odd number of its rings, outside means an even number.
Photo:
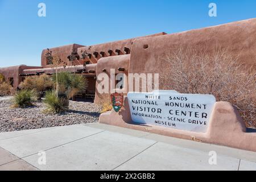
[{"label": "white sign panel reading White Sands National Monument Visitor Center", "polygon": [[205,94],[180,94],[174,90],[129,92],[131,118],[135,123],[207,132],[216,99]]}]

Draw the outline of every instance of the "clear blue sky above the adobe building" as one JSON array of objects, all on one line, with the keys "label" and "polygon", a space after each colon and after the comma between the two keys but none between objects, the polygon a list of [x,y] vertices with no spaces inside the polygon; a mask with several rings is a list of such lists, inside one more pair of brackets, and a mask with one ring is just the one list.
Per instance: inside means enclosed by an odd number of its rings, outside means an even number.
[{"label": "clear blue sky above the adobe building", "polygon": [[[46,17],[38,4],[46,4]],[[208,15],[216,3],[217,17]],[[40,65],[44,48],[92,45],[256,18],[256,0],[0,0],[0,67]]]}]

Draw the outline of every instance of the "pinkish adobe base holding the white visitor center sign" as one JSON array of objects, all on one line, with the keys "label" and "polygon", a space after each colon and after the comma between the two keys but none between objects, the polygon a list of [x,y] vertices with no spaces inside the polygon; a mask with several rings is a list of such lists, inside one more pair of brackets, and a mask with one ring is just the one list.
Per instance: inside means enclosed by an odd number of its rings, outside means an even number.
[{"label": "pinkish adobe base holding the white visitor center sign", "polygon": [[256,152],[256,133],[246,133],[245,123],[229,102],[214,104],[207,133],[133,123],[127,97],[124,97],[123,107],[119,113],[112,110],[101,114],[100,123]]}]

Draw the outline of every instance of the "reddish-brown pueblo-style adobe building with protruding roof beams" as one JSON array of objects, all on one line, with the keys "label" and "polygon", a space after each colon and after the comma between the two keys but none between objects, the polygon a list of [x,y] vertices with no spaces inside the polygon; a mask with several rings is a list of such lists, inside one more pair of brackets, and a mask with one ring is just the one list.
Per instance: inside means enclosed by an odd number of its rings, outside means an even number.
[{"label": "reddish-brown pueblo-style adobe building with protruding roof beams", "polygon": [[[175,46],[192,47],[213,52],[216,47],[228,47],[233,55],[240,55],[240,60],[246,66],[255,67],[256,63],[256,18],[242,20],[191,30],[175,34],[164,32],[139,38],[120,40],[117,42],[103,43],[93,46],[71,44],[56,48],[44,49],[42,52],[41,66],[29,67],[19,65],[15,67],[0,68],[6,79],[9,79],[14,89],[27,76],[46,73],[52,75],[51,61],[47,53],[57,55],[63,61],[72,61],[69,67],[71,72],[84,75],[88,80],[86,90],[94,95],[94,102],[100,103],[102,98],[109,94],[97,92],[97,76],[100,73],[109,75],[110,69],[115,73],[160,73],[161,57]],[[60,65],[59,71],[64,67]],[[129,85],[128,85],[129,86]]]}]

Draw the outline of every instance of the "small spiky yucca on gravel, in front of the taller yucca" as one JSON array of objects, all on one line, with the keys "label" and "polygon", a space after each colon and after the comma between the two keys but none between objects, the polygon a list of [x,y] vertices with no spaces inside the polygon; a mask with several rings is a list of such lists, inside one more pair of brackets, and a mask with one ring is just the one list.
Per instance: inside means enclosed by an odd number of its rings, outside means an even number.
[{"label": "small spiky yucca on gravel, in front of the taller yucca", "polygon": [[46,98],[43,102],[47,107],[47,109],[44,110],[45,113],[62,113],[68,109],[68,107],[65,106],[65,100],[58,97],[54,90],[46,92]]}]

